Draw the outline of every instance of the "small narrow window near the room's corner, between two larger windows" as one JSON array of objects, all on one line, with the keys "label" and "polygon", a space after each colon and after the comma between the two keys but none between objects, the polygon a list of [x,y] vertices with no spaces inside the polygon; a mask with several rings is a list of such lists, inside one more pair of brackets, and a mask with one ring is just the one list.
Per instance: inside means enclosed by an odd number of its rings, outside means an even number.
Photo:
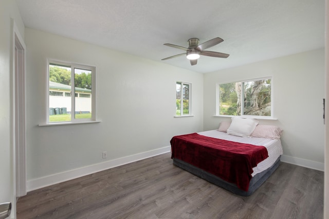
[{"label": "small narrow window near the room's corner, between two larger windows", "polygon": [[176,116],[191,114],[191,84],[176,82]]}]

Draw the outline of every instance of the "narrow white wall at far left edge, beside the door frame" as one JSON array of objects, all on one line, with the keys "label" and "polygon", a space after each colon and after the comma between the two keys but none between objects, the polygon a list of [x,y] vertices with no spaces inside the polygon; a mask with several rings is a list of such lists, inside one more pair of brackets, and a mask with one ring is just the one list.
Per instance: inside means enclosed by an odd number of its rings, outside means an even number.
[{"label": "narrow white wall at far left edge, beside the door frame", "polygon": [[24,38],[24,24],[12,0],[0,1],[0,203],[11,202],[15,215],[15,179],[12,108],[12,21]]}]

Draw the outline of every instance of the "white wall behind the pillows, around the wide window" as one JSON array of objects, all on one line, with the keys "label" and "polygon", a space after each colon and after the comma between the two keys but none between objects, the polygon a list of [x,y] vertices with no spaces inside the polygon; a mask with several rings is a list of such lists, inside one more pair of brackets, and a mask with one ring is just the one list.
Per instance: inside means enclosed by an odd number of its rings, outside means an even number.
[{"label": "white wall behind the pillows, around the wide window", "polygon": [[204,76],[204,129],[229,118],[216,114],[216,83],[272,76],[276,121],[282,127],[283,161],[315,169],[324,167],[324,49],[224,69]]}]

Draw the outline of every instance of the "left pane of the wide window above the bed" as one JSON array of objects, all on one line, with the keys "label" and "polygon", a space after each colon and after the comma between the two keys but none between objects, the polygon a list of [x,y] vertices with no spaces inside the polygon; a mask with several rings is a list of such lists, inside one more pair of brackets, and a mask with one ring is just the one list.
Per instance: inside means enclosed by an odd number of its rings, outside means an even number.
[{"label": "left pane of the wide window above the bed", "polygon": [[241,82],[220,84],[220,115],[241,113]]}]

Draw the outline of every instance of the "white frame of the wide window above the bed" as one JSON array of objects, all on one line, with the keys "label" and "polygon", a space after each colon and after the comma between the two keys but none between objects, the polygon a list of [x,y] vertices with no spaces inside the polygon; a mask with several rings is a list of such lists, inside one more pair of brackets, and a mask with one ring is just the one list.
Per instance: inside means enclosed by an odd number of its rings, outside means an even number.
[{"label": "white frame of the wide window above the bed", "polygon": [[271,115],[270,116],[258,116],[258,115],[244,115],[244,104],[241,103],[241,113],[240,115],[236,115],[239,117],[244,117],[244,118],[255,118],[255,119],[268,119],[268,120],[277,120],[274,117],[274,111],[273,111],[273,76],[267,76],[267,77],[262,77],[262,78],[252,78],[252,79],[246,79],[246,80],[238,80],[238,81],[228,81],[228,82],[224,82],[224,83],[216,83],[216,116],[218,117],[234,117],[234,115],[221,115],[220,114],[220,85],[221,84],[229,84],[229,83],[237,83],[240,82],[241,83],[241,100],[244,99],[244,86],[243,83],[244,82],[250,82],[250,81],[259,81],[259,80],[271,80]]}]

